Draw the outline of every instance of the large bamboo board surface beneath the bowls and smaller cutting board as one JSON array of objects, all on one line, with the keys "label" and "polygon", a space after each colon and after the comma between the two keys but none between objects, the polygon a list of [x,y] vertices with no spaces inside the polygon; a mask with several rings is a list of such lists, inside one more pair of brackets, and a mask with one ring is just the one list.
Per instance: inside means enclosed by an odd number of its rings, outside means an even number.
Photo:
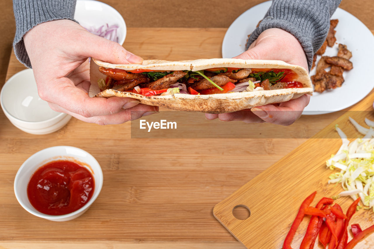
[{"label": "large bamboo board surface beneath the bowls and smaller cutting board", "polygon": [[[373,9],[370,0],[357,2]],[[130,27],[124,46],[144,59],[221,57],[226,29]],[[11,55],[6,79],[22,69]],[[288,128],[246,126],[315,134],[340,115],[302,116]],[[199,122],[208,121],[202,116]],[[225,125],[235,129],[243,124]],[[0,112],[0,248],[243,248],[213,217],[214,205],[306,141],[134,139],[130,127],[130,122],[99,126],[72,118],[61,130],[38,136],[18,130]],[[33,153],[58,145],[88,151],[104,173],[91,208],[68,222],[34,217],[13,192],[19,166]]]}]

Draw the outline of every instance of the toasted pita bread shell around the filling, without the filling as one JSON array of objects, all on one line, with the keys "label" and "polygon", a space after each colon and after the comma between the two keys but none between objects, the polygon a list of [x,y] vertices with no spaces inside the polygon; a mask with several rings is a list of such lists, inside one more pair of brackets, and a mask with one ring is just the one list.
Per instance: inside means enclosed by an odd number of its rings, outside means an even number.
[{"label": "toasted pita bread shell around the filling, without the filling", "polygon": [[[141,94],[121,92],[108,89],[100,92],[97,81],[106,76],[99,72],[99,66],[105,68],[120,68],[124,70],[151,69],[151,70],[191,70],[198,71],[208,68],[281,68],[292,69],[296,76],[294,81],[303,83],[303,88],[286,88],[277,90],[252,91],[244,93],[222,93],[209,95],[191,95],[177,93],[166,96],[143,96]],[[138,64],[110,64],[101,60],[92,59],[90,68],[91,87],[90,97],[131,97],[138,99],[145,105],[161,106],[179,111],[198,111],[205,113],[226,113],[242,109],[253,108],[271,103],[286,102],[296,99],[303,94],[312,94],[313,88],[308,72],[301,66],[291,65],[281,60],[242,60],[242,59],[199,59],[199,60],[144,60]]]}]

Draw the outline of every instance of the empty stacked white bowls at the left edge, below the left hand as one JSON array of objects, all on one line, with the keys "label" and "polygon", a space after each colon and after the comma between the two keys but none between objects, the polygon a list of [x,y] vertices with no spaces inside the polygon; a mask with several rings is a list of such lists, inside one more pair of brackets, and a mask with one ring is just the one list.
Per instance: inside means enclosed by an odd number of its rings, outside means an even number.
[{"label": "empty stacked white bowls at the left edge, below the left hand", "polygon": [[0,92],[1,109],[15,127],[31,134],[55,132],[70,120],[66,113],[55,112],[40,99],[32,69],[13,75]]}]

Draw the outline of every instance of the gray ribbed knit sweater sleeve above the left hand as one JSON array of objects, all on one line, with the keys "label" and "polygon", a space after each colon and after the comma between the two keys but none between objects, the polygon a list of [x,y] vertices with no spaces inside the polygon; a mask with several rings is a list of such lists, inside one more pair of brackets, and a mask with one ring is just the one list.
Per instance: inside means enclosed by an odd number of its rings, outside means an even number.
[{"label": "gray ribbed knit sweater sleeve above the left hand", "polygon": [[[17,59],[31,68],[23,36],[38,24],[47,21],[70,19],[75,21],[76,0],[13,0],[16,34],[13,41]],[[58,32],[58,30],[56,30]]]}]

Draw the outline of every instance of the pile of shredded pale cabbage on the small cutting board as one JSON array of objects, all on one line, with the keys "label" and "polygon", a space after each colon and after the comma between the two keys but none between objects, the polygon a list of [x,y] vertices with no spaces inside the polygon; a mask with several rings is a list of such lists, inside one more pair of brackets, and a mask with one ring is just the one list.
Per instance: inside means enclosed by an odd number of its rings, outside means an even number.
[{"label": "pile of shredded pale cabbage on the small cutting board", "polygon": [[[346,134],[335,126],[342,145],[326,165],[330,169],[340,169],[340,172],[331,174],[328,183],[341,183],[344,191],[339,196],[351,196],[354,200],[360,196],[362,204],[374,211],[374,129],[361,126],[351,117],[349,120],[365,136],[350,143]],[[365,123],[368,126],[374,124],[369,119],[365,119]]]}]

